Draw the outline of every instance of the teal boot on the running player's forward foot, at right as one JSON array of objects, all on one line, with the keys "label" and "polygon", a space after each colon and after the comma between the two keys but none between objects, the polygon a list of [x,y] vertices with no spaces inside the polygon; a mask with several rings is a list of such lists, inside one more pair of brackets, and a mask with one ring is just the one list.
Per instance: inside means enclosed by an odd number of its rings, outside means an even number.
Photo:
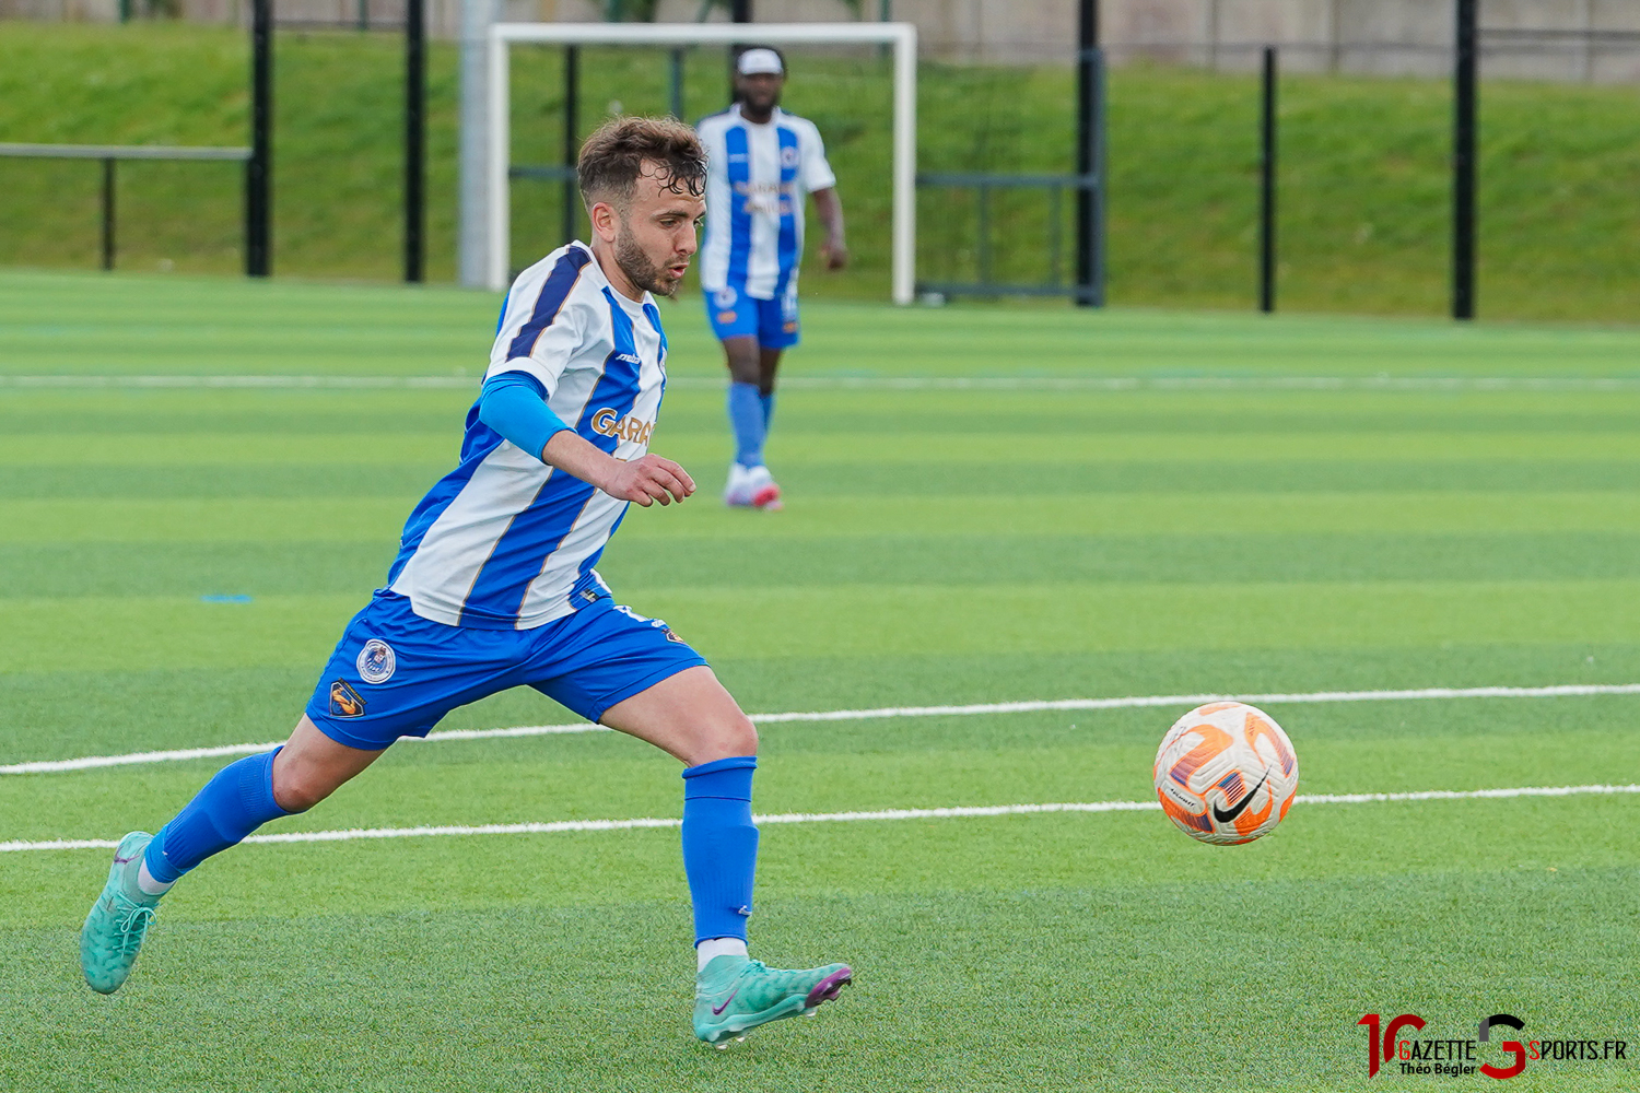
[{"label": "teal boot on the running player's forward foot, at right", "polygon": [[759,1024],[813,1014],[853,978],[846,964],[787,970],[746,957],[713,957],[695,977],[695,1036],[712,1047],[728,1047]]}]

